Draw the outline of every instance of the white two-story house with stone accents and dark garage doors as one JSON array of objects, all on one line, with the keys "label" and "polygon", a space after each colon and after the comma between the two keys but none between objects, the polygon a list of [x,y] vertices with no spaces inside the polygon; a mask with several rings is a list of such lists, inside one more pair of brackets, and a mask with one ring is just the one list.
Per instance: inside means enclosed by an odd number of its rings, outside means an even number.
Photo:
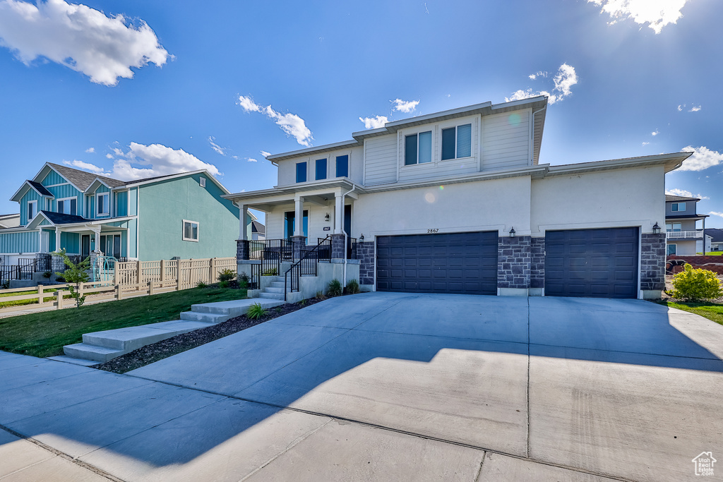
[{"label": "white two-story house with stone accents and dark garage doors", "polygon": [[355,238],[369,290],[659,297],[664,175],[690,153],[539,164],[546,108],[487,102],[269,155],[278,185],[226,198],[265,212],[266,242],[297,258],[331,235],[341,260]]}]

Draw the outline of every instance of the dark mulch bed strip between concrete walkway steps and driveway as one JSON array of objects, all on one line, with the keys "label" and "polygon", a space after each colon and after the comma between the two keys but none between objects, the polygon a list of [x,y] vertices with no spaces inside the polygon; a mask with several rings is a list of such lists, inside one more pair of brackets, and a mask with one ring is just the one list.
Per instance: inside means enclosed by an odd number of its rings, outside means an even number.
[{"label": "dark mulch bed strip between concrete walkway steps and driveway", "polygon": [[137,350],[133,350],[130,353],[114,358],[106,363],[100,363],[99,365],[93,366],[95,369],[113,371],[114,373],[126,373],[134,369],[138,369],[141,366],[146,366],[155,361],[163,360],[169,356],[174,356],[182,353],[191,348],[196,348],[205,343],[210,343],[219,338],[233,335],[241,330],[254,327],[257,324],[268,322],[270,319],[281,317],[285,314],[292,313],[299,309],[304,308],[312,304],[316,304],[322,301],[321,298],[309,298],[299,303],[288,303],[274,308],[268,309],[265,317],[260,319],[249,319],[247,316],[241,315],[240,317],[231,318],[225,322],[212,324],[208,328],[201,328],[200,330],[194,330],[192,332],[184,333],[182,335],[176,335],[166,340],[161,340],[152,345],[146,345]]}]

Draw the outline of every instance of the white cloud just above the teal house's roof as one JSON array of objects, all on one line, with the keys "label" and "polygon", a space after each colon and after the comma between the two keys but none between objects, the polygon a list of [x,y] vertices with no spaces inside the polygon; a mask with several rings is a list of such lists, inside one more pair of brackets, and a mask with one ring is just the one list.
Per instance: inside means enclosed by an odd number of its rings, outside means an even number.
[{"label": "white cloud just above the teal house's roof", "polygon": [[68,164],[122,181],[199,171],[200,169],[205,169],[213,176],[222,175],[215,165],[204,163],[182,149],[172,149],[161,144],[143,145],[131,142],[127,152],[118,148],[114,148],[114,152],[116,155],[106,155],[106,158],[113,159],[113,168],[110,171],[80,160],[74,160]]}]

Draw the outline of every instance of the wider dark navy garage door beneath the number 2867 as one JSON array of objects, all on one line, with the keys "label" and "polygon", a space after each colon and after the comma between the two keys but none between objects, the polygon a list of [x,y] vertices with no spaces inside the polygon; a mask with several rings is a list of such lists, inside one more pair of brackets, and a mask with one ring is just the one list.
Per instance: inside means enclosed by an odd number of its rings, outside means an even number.
[{"label": "wider dark navy garage door beneath the number 2867", "polygon": [[497,294],[497,231],[377,238],[377,290]]}]

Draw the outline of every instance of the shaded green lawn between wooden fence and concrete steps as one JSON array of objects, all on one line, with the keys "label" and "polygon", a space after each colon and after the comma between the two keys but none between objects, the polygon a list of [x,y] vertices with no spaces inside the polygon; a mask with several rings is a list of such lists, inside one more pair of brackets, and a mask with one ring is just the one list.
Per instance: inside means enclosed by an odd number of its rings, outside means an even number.
[{"label": "shaded green lawn between wooden fence and concrete steps", "polygon": [[179,319],[192,304],[236,300],[246,290],[192,288],[153,296],[108,301],[80,309],[68,308],[0,319],[0,350],[22,355],[56,356],[63,345],[80,343],[83,333],[135,327]]}]

